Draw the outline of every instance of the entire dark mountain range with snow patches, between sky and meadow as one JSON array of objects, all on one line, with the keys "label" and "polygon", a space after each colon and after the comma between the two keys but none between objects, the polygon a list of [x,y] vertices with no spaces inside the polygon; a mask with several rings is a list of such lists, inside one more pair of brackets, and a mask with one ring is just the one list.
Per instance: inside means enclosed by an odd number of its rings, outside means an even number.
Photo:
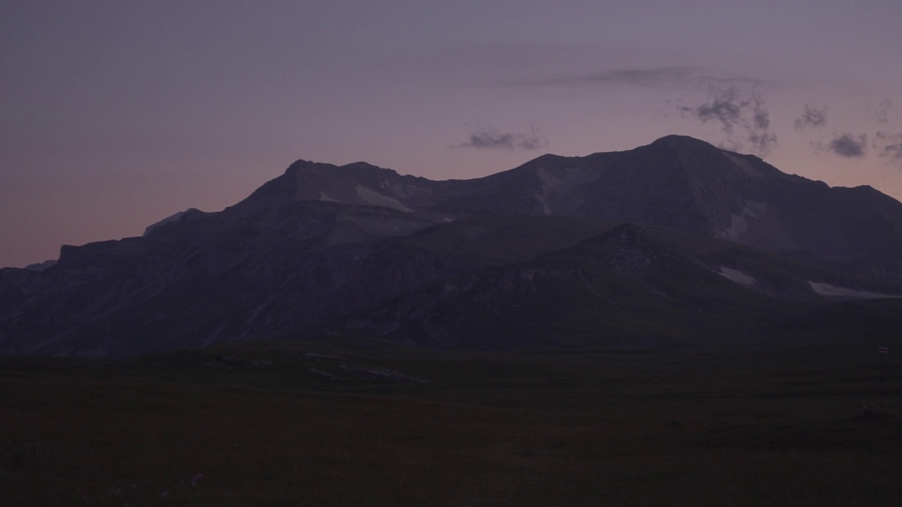
[{"label": "entire dark mountain range with snow patches, between sky and meadow", "polygon": [[63,246],[42,270],[0,270],[0,354],[330,333],[748,346],[799,316],[861,311],[839,300],[902,295],[900,250],[902,204],[877,190],[683,136],[475,180],[297,161],[221,212],[192,208],[142,237]]}]

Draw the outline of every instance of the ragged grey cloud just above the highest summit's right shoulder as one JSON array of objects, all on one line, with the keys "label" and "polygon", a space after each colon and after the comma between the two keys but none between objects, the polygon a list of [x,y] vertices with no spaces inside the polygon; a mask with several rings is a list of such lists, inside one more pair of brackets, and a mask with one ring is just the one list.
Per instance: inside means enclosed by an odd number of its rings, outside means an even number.
[{"label": "ragged grey cloud just above the highest summit's right shoulder", "polygon": [[708,98],[702,104],[676,108],[703,124],[718,124],[726,135],[722,145],[733,150],[750,148],[752,152],[765,156],[777,143],[777,135],[770,132],[770,114],[764,106],[764,99],[749,89],[712,85]]}]

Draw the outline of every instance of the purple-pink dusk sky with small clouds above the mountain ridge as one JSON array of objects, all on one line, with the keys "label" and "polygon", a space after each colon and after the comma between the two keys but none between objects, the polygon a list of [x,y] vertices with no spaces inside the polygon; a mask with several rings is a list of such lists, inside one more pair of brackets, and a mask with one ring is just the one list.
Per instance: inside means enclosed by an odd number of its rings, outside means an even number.
[{"label": "purple-pink dusk sky with small clouds above the mountain ridge", "polygon": [[897,0],[5,0],[0,266],[298,159],[433,180],[686,134],[902,198]]}]

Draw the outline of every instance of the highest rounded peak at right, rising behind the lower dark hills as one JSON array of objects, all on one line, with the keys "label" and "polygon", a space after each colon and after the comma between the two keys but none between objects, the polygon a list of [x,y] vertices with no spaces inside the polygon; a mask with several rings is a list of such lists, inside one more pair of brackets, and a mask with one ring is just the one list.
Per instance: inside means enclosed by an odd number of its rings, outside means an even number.
[{"label": "highest rounded peak at right, rising behind the lower dark hills", "polygon": [[690,137],[630,152],[545,155],[481,183],[438,207],[670,227],[902,280],[897,200],[870,187],[830,188]]}]

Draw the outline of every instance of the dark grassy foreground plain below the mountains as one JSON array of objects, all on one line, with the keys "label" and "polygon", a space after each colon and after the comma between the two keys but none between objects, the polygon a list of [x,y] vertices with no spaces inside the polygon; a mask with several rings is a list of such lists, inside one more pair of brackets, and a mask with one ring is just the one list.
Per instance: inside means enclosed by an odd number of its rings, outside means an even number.
[{"label": "dark grassy foreground plain below the mountains", "polygon": [[[347,345],[0,360],[0,504],[902,498],[902,424],[852,419],[879,404],[870,341],[759,353]],[[893,357],[886,408],[902,412]]]}]

